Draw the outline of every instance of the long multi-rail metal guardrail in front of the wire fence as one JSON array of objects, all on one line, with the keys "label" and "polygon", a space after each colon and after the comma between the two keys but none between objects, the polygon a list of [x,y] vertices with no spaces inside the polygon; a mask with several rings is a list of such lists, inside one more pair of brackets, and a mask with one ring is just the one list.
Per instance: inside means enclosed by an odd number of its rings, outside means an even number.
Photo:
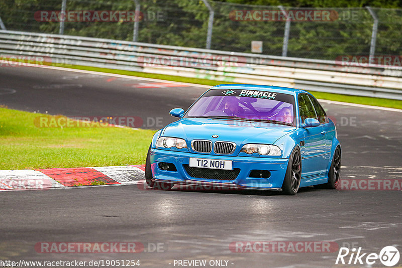
[{"label": "long multi-rail metal guardrail in front of the wire fence", "polygon": [[55,65],[274,84],[402,100],[402,68],[234,53],[78,36],[0,31],[0,55],[42,56]]}]

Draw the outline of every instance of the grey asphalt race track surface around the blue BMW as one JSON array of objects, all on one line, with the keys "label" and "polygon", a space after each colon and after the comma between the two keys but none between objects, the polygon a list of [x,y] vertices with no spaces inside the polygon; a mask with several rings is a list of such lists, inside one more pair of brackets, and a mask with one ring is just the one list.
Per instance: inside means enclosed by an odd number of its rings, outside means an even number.
[{"label": "grey asphalt race track surface around the blue BMW", "polygon": [[[170,109],[186,109],[206,90],[34,67],[2,67],[0,80],[0,104],[9,108],[72,117],[140,116],[142,127],[152,129],[173,121]],[[322,104],[337,122],[347,187],[361,179],[400,182],[402,113]],[[161,125],[155,118],[161,118]],[[212,267],[210,260],[228,260],[229,267],[384,267],[379,260],[373,265],[336,265],[338,248],[238,252],[230,245],[332,241],[339,247],[361,247],[367,254],[378,254],[388,245],[402,249],[400,190],[310,187],[296,196],[282,196],[268,191],[144,190],[139,184],[2,192],[0,201],[0,259],[16,261],[140,259],[144,267],[179,267],[177,260],[205,259],[206,267]],[[145,249],[141,253],[39,253],[35,249],[38,242],[103,241],[137,241]],[[154,248],[157,243],[159,250]],[[349,257],[350,253],[345,261]]]}]

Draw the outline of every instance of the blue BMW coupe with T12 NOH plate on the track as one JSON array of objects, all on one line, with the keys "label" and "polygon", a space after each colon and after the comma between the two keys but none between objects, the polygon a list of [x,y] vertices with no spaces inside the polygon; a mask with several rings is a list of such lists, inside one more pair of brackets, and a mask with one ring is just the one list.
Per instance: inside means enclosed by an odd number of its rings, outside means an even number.
[{"label": "blue BMW coupe with T12 NOH plate on the track", "polygon": [[218,85],[157,131],[145,167],[149,187],[227,185],[335,189],[341,146],[336,126],[309,92],[264,85]]}]

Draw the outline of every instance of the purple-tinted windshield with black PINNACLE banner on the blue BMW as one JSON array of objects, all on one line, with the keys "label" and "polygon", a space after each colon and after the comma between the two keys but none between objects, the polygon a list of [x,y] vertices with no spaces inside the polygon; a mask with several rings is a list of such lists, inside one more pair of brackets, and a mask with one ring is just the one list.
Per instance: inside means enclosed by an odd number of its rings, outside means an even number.
[{"label": "purple-tinted windshield with black PINNACLE banner on the blue BMW", "polygon": [[184,117],[231,118],[295,126],[294,97],[261,90],[210,90]]}]

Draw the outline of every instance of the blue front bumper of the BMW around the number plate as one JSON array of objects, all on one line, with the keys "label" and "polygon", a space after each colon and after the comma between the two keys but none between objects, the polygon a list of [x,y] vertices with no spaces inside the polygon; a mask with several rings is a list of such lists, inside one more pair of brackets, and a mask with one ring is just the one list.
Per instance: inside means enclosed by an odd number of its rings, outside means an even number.
[{"label": "blue front bumper of the BMW around the number plate", "polygon": [[[183,165],[189,165],[189,158],[207,158],[217,160],[232,160],[232,168],[240,169],[239,175],[234,180],[201,179],[191,177]],[[188,152],[168,151],[151,149],[151,170],[152,176],[158,181],[169,181],[171,183],[192,183],[205,182],[221,185],[238,185],[245,188],[257,188],[276,190],[282,187],[286,168],[289,159],[283,158],[263,158],[263,157],[240,157],[240,156],[217,156],[205,154],[193,154]],[[161,170],[159,162],[174,164],[177,171]],[[264,178],[249,177],[252,170],[268,170],[271,176]]]}]

